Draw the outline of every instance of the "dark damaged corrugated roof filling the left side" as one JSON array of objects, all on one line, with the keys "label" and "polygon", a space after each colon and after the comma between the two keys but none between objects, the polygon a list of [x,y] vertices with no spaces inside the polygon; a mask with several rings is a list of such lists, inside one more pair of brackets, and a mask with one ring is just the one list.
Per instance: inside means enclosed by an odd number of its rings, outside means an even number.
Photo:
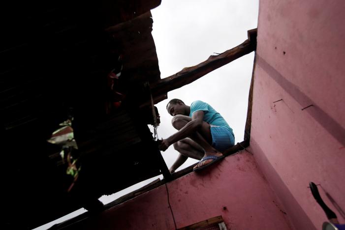
[{"label": "dark damaged corrugated roof filling the left side", "polygon": [[[6,4],[0,47],[6,228],[32,229],[81,207],[98,210],[102,195],[169,176],[147,126],[155,122],[150,84],[160,80],[150,9],[160,0]],[[61,146],[47,142],[71,117],[76,180],[66,174]]]}]

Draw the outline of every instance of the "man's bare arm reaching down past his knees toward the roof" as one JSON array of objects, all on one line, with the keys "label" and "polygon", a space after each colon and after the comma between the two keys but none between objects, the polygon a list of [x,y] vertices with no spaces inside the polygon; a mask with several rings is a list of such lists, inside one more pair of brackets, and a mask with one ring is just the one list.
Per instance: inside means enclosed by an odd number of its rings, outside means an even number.
[{"label": "man's bare arm reaching down past his knees toward the roof", "polygon": [[191,117],[191,121],[189,121],[182,129],[180,129],[175,134],[171,135],[167,139],[163,139],[162,143],[159,146],[159,149],[165,151],[171,144],[174,144],[184,138],[189,137],[191,134],[198,131],[203,122],[204,118],[204,111],[196,111],[193,113]]}]

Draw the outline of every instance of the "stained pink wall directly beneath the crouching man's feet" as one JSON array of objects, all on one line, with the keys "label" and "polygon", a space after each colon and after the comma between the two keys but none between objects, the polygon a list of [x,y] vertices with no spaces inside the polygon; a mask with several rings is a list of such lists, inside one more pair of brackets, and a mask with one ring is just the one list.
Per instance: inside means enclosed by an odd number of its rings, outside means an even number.
[{"label": "stained pink wall directly beneath the crouching man's feet", "polygon": [[[221,215],[228,230],[291,230],[285,210],[246,151],[167,187],[177,228]],[[174,230],[175,226],[162,185],[71,229]]]}]

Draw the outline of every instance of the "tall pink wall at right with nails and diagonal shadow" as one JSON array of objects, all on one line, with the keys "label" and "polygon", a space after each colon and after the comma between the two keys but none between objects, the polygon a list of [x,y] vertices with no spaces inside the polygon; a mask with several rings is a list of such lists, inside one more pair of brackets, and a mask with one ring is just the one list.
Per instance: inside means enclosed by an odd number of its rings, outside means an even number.
[{"label": "tall pink wall at right with nails and diagonal shadow", "polygon": [[345,210],[344,12],[342,0],[260,1],[250,148],[295,229],[327,221],[310,181]]}]

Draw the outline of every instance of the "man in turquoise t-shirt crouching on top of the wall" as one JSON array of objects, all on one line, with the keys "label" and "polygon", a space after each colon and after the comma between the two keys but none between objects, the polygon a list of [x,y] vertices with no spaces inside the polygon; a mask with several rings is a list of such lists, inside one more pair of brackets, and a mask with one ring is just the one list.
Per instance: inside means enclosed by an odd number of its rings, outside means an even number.
[{"label": "man in turquoise t-shirt crouching on top of the wall", "polygon": [[193,171],[201,170],[222,159],[221,151],[234,145],[232,129],[209,104],[198,100],[187,106],[180,99],[172,99],[166,109],[173,116],[172,125],[179,130],[159,144],[162,151],[173,144],[180,153],[169,169],[170,173],[174,173],[188,157],[200,160]]}]

